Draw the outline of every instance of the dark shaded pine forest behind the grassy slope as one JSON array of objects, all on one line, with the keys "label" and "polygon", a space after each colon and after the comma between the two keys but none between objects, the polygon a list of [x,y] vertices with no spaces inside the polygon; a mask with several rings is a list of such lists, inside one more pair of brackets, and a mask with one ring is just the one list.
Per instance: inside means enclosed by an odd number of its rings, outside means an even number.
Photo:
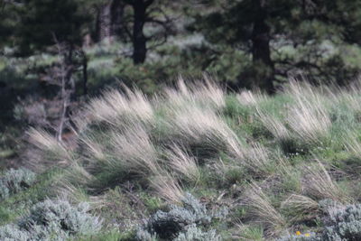
[{"label": "dark shaded pine forest behind the grassy slope", "polygon": [[23,126],[59,134],[121,84],[152,95],[208,74],[270,94],[292,78],[344,86],[360,42],[358,0],[1,0],[0,156]]}]

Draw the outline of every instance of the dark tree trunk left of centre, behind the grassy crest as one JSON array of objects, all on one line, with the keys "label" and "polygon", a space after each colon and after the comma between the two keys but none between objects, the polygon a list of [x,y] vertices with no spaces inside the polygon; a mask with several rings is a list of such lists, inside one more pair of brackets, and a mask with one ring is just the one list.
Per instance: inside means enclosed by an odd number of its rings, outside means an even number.
[{"label": "dark tree trunk left of centre, behind the grassy crest", "polygon": [[143,27],[146,18],[146,8],[143,0],[138,0],[133,5],[134,25],[133,25],[133,61],[134,64],[141,64],[146,58],[146,37],[143,33]]}]

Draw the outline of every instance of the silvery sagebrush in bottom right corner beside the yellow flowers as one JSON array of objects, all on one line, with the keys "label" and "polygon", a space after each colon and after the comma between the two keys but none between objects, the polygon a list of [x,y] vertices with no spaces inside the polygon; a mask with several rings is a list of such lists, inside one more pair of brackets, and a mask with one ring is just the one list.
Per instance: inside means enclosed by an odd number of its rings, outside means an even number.
[{"label": "silvery sagebrush in bottom right corner beside the yellow flowers", "polygon": [[325,228],[323,240],[361,240],[361,204],[329,210],[330,226]]}]

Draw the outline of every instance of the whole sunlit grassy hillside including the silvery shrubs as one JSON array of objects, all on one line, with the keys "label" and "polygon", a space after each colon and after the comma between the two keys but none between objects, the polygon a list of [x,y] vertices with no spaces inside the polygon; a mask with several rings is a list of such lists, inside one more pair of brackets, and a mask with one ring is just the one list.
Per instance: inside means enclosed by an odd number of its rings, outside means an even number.
[{"label": "whole sunlit grassy hillside including the silvery shrubs", "polygon": [[[152,99],[109,90],[83,107],[75,141],[29,131],[38,174],[3,174],[0,237],[360,240],[360,93],[291,81],[272,97],[226,94],[207,78]],[[88,226],[64,227],[58,199],[87,202],[69,223]]]}]

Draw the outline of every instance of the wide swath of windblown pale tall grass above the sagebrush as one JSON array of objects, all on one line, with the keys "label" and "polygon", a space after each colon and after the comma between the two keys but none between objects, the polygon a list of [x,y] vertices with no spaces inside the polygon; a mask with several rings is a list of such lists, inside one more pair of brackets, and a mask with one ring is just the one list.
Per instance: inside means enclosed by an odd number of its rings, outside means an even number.
[{"label": "wide swath of windblown pale tall grass above the sagebrush", "polygon": [[[42,130],[29,134],[44,160],[67,167],[60,192],[69,199],[120,186],[132,190],[134,200],[145,192],[179,202],[185,190],[201,190],[210,197],[222,193],[233,206],[243,194],[249,216],[239,214],[242,220],[260,223],[257,235],[265,230],[271,238],[288,226],[286,220],[321,215],[321,199],[354,200],[328,170],[329,163],[342,167],[349,156],[361,156],[359,93],[291,81],[281,98],[243,90],[228,112],[227,94],[210,79],[180,78],[154,98],[125,88],[90,100],[71,148]],[[252,118],[239,121],[244,116]],[[309,149],[300,154],[302,144]],[[338,155],[333,146],[340,146]],[[311,162],[312,153],[327,160]]]}]

